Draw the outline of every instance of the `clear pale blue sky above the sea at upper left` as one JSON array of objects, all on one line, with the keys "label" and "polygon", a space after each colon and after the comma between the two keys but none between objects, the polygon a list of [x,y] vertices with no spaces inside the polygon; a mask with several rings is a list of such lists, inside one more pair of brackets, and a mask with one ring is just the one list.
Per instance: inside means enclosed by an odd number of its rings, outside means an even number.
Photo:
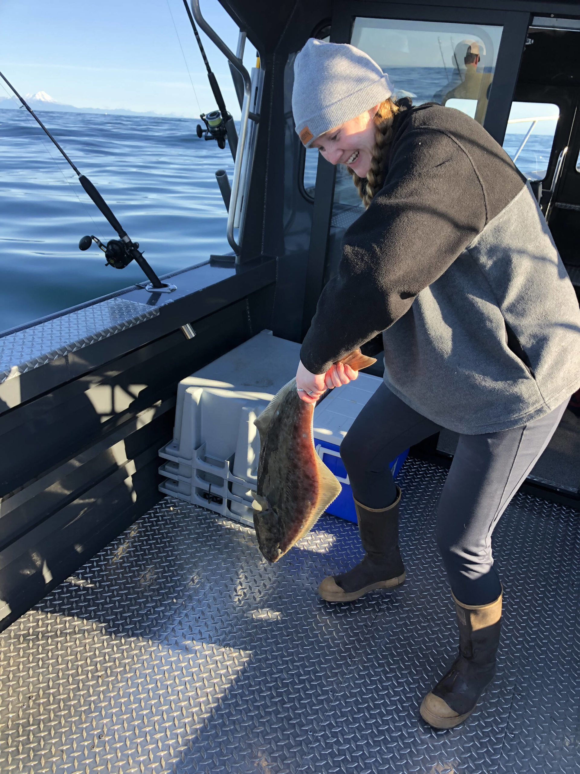
[{"label": "clear pale blue sky above the sea at upper left", "polygon": [[[238,29],[219,2],[200,0],[200,6],[235,52]],[[227,61],[200,35],[227,108],[239,118]],[[244,63],[248,69],[255,63],[249,42]],[[188,67],[201,110],[213,110],[183,0],[0,0],[0,70],[21,94],[46,91],[78,108],[198,116]]]}]

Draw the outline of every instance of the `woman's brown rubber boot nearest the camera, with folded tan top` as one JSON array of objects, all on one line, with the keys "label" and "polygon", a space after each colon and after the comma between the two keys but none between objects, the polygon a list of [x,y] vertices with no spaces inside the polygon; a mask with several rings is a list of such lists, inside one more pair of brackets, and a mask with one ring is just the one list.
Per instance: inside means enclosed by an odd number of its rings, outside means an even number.
[{"label": "woman's brown rubber boot nearest the camera, with folded tan top", "polygon": [[496,673],[502,594],[490,604],[453,600],[459,625],[459,656],[421,704],[421,717],[434,728],[454,728],[466,720]]}]

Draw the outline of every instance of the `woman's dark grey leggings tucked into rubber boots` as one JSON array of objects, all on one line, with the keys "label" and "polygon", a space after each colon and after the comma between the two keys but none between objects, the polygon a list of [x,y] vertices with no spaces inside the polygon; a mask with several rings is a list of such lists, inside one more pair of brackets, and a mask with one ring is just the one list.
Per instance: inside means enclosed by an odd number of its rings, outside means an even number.
[{"label": "woman's dark grey leggings tucked into rubber boots", "polygon": [[[548,446],[567,404],[568,399],[512,430],[459,436],[438,503],[435,535],[453,594],[464,604],[487,604],[500,595],[493,529]],[[381,384],[340,446],[355,499],[368,508],[391,505],[397,490],[389,463],[438,430]]]}]

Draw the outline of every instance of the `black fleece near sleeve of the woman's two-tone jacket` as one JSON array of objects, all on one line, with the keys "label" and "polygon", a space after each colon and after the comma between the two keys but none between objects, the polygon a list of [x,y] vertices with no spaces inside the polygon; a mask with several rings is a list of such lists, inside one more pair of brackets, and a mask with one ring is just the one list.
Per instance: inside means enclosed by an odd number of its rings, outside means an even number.
[{"label": "black fleece near sleeve of the woman's two-tone jacket", "polygon": [[410,128],[387,179],[346,231],[338,273],[322,290],[300,358],[312,373],[386,330],[486,224],[469,156],[445,132]]}]

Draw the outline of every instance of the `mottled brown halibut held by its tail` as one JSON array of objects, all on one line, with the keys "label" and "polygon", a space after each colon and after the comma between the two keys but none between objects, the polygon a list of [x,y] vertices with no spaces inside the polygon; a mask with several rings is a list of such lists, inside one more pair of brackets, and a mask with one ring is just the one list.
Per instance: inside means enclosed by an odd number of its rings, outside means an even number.
[{"label": "mottled brown halibut held by its tail", "polygon": [[[354,351],[341,362],[359,371],[376,359]],[[305,536],[340,494],[339,482],[316,454],[313,416],[314,404],[300,399],[292,379],[254,422],[260,433],[254,527],[269,562]]]}]

